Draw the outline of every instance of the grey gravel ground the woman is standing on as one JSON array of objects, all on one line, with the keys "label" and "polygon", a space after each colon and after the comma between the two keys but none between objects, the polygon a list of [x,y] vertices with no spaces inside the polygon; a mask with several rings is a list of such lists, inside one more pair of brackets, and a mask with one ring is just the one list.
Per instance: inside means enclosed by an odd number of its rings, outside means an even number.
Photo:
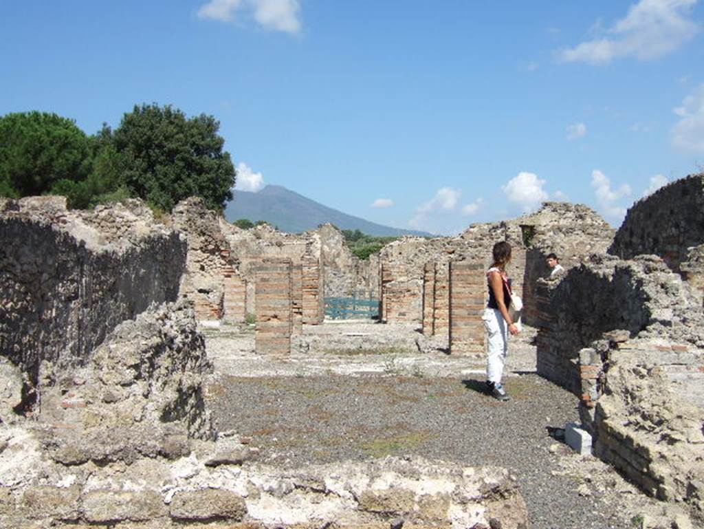
[{"label": "grey gravel ground the woman is standing on", "polygon": [[[339,325],[310,332],[359,334]],[[372,334],[379,332],[389,330]],[[408,342],[408,329],[394,332],[406,333]],[[253,352],[251,334],[208,332],[215,363],[208,405],[218,429],[250,437],[263,461],[293,468],[413,454],[503,466],[520,481],[534,529],[636,528],[634,516],[664,509],[601,461],[549,435],[578,421],[577,399],[531,373],[530,330],[514,344],[518,368],[508,373],[512,400],[505,403],[484,394],[482,359],[408,348],[353,354],[356,336],[347,353],[337,343],[336,354],[263,358]]]}]

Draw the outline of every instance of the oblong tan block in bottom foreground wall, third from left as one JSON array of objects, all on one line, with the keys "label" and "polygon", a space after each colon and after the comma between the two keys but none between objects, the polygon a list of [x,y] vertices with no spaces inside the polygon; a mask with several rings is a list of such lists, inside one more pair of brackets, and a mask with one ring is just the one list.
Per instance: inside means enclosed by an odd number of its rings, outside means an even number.
[{"label": "oblong tan block in bottom foreground wall, third from left", "polygon": [[247,514],[247,506],[239,494],[221,489],[177,492],[169,510],[172,518],[193,521],[241,521]]}]

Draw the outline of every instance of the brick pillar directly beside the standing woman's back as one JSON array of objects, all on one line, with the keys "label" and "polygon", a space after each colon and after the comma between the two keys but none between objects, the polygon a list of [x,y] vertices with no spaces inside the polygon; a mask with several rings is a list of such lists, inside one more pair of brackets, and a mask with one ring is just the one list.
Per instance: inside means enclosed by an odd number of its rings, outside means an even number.
[{"label": "brick pillar directly beside the standing woman's back", "polygon": [[451,261],[450,284],[450,352],[469,354],[484,352],[484,263]]}]

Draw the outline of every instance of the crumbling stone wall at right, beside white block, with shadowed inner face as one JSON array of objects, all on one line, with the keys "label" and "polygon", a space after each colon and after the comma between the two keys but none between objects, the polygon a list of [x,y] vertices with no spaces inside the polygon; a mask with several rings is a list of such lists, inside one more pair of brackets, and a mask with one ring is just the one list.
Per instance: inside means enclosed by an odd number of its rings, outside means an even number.
[{"label": "crumbling stone wall at right, beside white block, with shadowed inner face", "polygon": [[539,281],[538,373],[580,397],[594,453],[704,521],[704,315],[655,256]]}]

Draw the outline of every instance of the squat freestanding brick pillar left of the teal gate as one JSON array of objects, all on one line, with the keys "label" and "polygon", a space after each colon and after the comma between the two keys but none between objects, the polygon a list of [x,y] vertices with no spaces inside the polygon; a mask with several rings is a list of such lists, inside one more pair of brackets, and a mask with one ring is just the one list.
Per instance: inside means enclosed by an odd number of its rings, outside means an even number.
[{"label": "squat freestanding brick pillar left of the teal gate", "polygon": [[256,267],[255,349],[291,352],[291,261],[265,259]]}]

